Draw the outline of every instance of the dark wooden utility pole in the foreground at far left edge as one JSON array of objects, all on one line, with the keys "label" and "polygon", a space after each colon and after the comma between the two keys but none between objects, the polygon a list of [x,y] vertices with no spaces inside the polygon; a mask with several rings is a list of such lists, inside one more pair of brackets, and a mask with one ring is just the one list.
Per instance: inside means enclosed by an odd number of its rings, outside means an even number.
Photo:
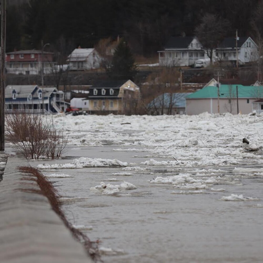
[{"label": "dark wooden utility pole in the foreground at far left edge", "polygon": [[0,51],[0,151],[4,150],[4,90],[6,60],[6,0],[1,0],[1,51]]}]

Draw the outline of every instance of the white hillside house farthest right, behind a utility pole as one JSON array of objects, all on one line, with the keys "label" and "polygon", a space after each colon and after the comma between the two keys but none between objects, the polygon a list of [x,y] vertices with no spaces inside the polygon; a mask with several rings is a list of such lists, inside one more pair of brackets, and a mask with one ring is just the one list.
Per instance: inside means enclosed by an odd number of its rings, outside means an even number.
[{"label": "white hillside house farthest right, behind a utility pole", "polygon": [[[237,57],[236,57],[237,49]],[[251,37],[240,37],[237,42],[234,37],[227,37],[215,50],[215,61],[229,61],[239,64],[257,61],[259,59],[258,46]]]}]

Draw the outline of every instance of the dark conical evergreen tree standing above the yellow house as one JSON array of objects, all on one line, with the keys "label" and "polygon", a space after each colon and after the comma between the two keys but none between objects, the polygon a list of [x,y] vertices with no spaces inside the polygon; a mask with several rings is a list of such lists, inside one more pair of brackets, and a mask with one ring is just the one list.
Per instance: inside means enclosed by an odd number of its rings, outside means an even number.
[{"label": "dark conical evergreen tree standing above the yellow house", "polygon": [[136,73],[136,66],[134,65],[131,49],[124,39],[121,39],[115,49],[112,58],[111,73],[120,78],[132,78]]}]

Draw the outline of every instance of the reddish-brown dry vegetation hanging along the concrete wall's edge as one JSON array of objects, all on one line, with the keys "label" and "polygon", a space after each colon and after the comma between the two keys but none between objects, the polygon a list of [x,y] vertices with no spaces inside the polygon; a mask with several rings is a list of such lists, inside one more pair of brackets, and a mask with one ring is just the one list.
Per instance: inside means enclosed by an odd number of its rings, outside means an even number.
[{"label": "reddish-brown dry vegetation hanging along the concrete wall's edge", "polygon": [[51,204],[52,209],[58,214],[58,216],[62,219],[65,226],[71,231],[73,237],[78,240],[79,242],[82,242],[87,254],[91,256],[91,258],[95,262],[102,262],[99,251],[98,251],[98,243],[92,242],[87,235],[83,234],[80,230],[75,229],[70,222],[66,219],[66,216],[64,215],[63,211],[61,210],[61,202],[59,201],[59,194],[58,191],[54,188],[51,181],[49,181],[46,176],[44,176],[39,170],[36,168],[32,168],[30,166],[23,166],[19,167],[19,170],[22,172],[26,172],[28,174],[31,174],[32,178],[24,178],[24,180],[32,180],[36,181],[39,185],[40,191],[36,191],[34,189],[28,189],[25,191],[28,192],[34,192],[39,193],[47,197],[49,200],[49,203]]}]

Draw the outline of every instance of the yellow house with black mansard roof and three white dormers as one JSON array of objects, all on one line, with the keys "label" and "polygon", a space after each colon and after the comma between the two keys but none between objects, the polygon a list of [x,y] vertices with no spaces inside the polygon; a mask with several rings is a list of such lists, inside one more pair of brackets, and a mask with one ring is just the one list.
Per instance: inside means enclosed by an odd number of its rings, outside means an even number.
[{"label": "yellow house with black mansard roof and three white dormers", "polygon": [[112,87],[92,87],[89,92],[89,111],[93,114],[132,114],[140,100],[140,88],[131,80]]}]

